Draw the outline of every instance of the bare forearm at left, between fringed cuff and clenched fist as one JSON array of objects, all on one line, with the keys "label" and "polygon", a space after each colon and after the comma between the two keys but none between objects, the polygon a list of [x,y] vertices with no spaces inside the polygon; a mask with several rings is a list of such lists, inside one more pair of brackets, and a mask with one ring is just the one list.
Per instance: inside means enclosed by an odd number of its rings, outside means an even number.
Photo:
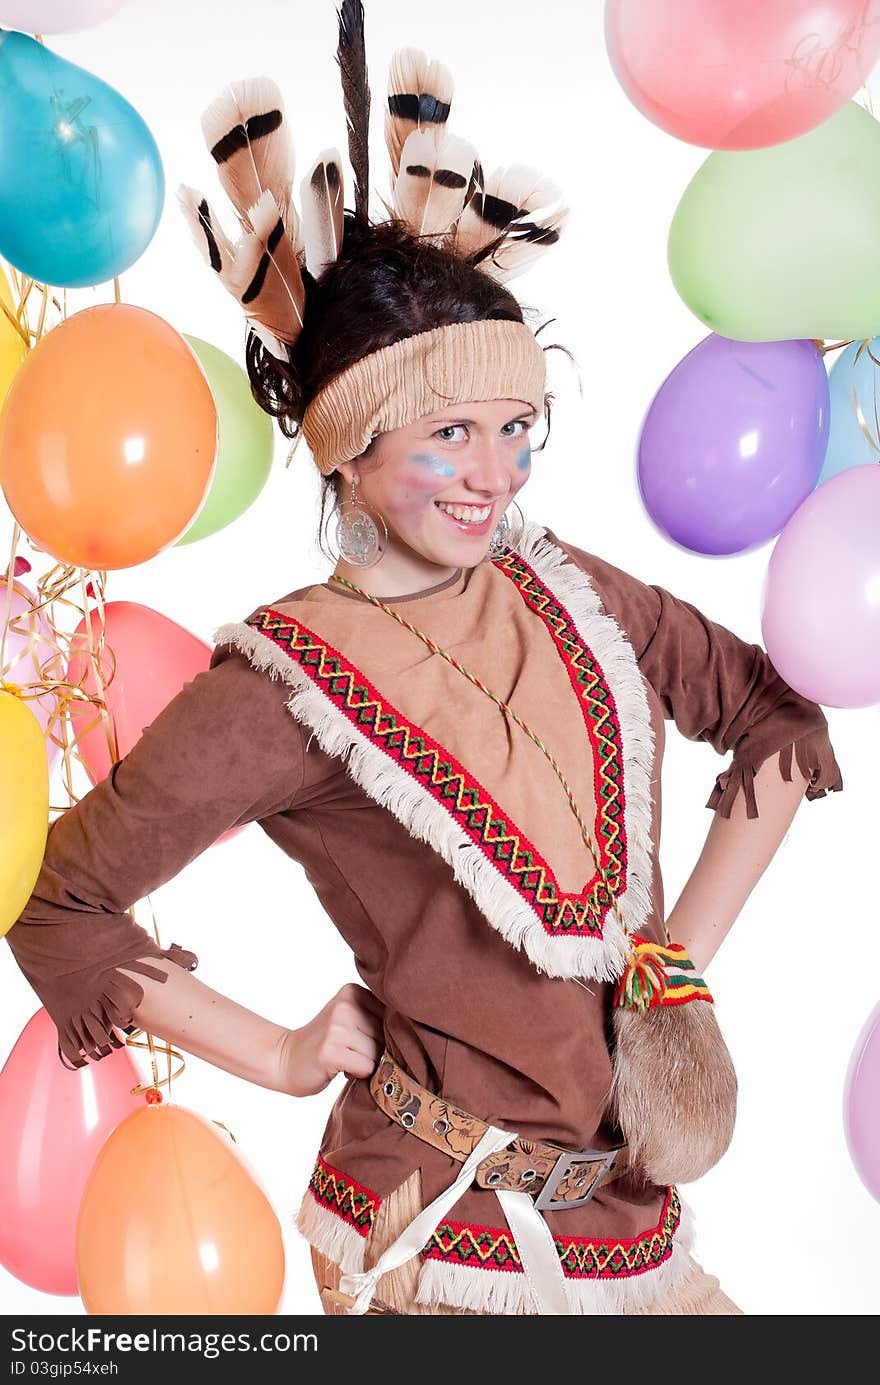
[{"label": "bare forearm at left, between fringed cuff and clenched fist", "polygon": [[[168,981],[126,972],[144,989],[133,1019],[148,1033],[273,1091],[290,1091],[290,1029],[212,990],[172,961],[148,958]],[[125,971],[125,967],[119,968]]]}]

